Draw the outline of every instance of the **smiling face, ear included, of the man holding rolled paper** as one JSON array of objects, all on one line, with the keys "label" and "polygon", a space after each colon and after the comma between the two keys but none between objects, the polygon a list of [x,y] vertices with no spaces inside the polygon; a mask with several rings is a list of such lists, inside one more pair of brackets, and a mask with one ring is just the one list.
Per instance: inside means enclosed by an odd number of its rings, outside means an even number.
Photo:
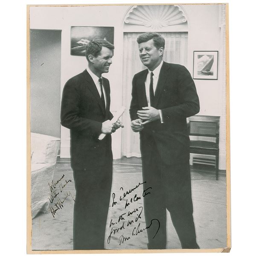
[{"label": "smiling face, ear included, of the man holding rolled paper", "polygon": [[108,47],[102,47],[98,56],[89,55],[90,69],[100,77],[102,73],[108,73],[109,67],[112,64],[113,51]]}]

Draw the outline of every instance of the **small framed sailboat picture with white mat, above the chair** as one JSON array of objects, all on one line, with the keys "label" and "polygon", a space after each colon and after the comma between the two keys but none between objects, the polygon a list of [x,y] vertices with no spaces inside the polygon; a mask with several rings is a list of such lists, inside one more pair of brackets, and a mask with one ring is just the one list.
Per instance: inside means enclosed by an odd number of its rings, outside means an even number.
[{"label": "small framed sailboat picture with white mat, above the chair", "polygon": [[218,51],[194,51],[193,79],[218,79]]}]

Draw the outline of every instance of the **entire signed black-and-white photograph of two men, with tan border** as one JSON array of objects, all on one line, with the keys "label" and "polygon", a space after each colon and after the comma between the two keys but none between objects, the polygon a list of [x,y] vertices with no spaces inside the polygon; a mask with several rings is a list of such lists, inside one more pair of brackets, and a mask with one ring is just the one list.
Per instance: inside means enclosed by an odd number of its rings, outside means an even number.
[{"label": "entire signed black-and-white photograph of two men, with tan border", "polygon": [[27,12],[27,252],[229,252],[228,4]]}]

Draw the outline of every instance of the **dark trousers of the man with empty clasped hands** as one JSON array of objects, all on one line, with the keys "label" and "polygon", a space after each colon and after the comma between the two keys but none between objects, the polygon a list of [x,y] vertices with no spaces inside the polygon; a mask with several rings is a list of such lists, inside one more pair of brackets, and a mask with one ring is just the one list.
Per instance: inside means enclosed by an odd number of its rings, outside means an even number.
[{"label": "dark trousers of the man with empty clasped hands", "polygon": [[144,212],[147,227],[152,219],[158,219],[160,228],[156,234],[158,223],[154,221],[147,229],[148,249],[166,248],[166,209],[170,212],[181,247],[198,248],[193,220],[189,160],[166,165],[161,161],[156,145],[151,148],[146,157],[142,157],[143,181],[146,181],[143,184],[144,189],[152,187],[151,194],[144,197]]}]

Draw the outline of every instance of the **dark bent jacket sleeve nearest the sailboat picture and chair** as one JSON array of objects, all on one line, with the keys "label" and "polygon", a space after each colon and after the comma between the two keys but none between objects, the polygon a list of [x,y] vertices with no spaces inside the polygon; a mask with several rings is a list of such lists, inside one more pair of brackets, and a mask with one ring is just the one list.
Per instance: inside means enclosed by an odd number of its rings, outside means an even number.
[{"label": "dark bent jacket sleeve nearest the sailboat picture and chair", "polygon": [[164,122],[179,119],[180,117],[193,116],[200,110],[195,83],[189,71],[183,66],[180,66],[178,70],[177,82],[180,102],[176,106],[162,109]]}]

